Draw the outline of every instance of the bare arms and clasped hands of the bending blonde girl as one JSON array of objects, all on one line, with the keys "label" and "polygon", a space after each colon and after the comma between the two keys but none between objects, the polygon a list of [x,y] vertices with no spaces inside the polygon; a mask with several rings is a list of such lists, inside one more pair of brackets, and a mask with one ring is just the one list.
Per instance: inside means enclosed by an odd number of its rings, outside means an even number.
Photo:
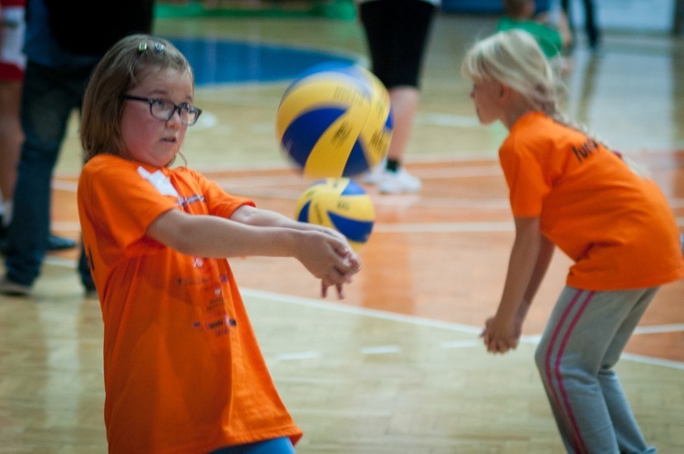
[{"label": "bare arms and clasped hands of the bending blonde girl", "polygon": [[496,315],[486,321],[482,332],[487,351],[505,353],[518,345],[524,317],[553,252],[554,244],[540,231],[538,217],[515,218],[515,241],[502,299]]}]

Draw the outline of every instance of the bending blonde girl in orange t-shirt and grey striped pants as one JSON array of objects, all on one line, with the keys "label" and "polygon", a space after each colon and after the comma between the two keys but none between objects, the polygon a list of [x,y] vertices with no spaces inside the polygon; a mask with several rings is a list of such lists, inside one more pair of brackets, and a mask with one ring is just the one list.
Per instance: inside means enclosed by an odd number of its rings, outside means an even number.
[{"label": "bending blonde girl in orange t-shirt and grey striped pants", "polygon": [[557,246],[570,267],[536,365],[568,452],[651,453],[614,366],[658,286],[684,276],[679,230],[653,181],[558,110],[533,36],[500,32],[461,66],[482,124],[509,129],[499,159],[515,223],[503,294],[485,322],[492,353],[515,348]]}]

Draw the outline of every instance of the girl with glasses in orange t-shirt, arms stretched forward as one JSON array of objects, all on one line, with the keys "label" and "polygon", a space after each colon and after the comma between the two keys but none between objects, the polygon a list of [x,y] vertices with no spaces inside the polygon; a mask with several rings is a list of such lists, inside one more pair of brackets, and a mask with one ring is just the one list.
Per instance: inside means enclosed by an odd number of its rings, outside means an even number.
[{"label": "girl with glasses in orange t-shirt, arms stretched forward", "polygon": [[358,257],[336,232],[171,167],[201,114],[188,61],[152,36],[121,39],[86,90],[78,212],[104,321],[109,452],[291,454],[302,432],[226,257],[295,257],[340,296]]}]

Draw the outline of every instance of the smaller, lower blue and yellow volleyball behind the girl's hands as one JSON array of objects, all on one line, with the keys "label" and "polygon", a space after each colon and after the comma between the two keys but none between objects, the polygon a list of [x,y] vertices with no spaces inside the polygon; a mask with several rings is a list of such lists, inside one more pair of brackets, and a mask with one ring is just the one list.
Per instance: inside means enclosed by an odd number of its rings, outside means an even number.
[{"label": "smaller, lower blue and yellow volleyball behind the girl's hands", "polygon": [[370,237],[375,222],[373,201],[364,189],[348,178],[316,181],[302,193],[295,219],[331,227],[347,237],[358,250]]}]

